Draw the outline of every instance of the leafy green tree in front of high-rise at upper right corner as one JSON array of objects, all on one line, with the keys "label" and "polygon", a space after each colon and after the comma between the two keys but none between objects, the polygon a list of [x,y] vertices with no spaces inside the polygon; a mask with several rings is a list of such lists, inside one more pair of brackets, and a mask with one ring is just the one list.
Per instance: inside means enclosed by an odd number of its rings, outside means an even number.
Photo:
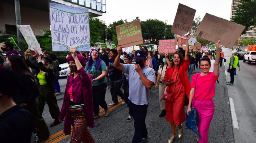
[{"label": "leafy green tree in front of high-rise at upper right corner", "polygon": [[251,26],[256,26],[256,0],[240,0],[240,2],[241,4],[237,5],[238,9],[231,21],[245,26],[245,30],[242,32],[245,34],[246,31],[252,29]]}]

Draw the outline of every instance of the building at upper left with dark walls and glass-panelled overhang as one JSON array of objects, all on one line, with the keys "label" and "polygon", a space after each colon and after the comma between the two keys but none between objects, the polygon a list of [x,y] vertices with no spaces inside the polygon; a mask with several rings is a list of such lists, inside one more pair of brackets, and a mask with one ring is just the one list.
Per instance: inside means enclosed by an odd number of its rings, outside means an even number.
[{"label": "building at upper left with dark walls and glass-panelled overhang", "polygon": [[[0,0],[0,35],[17,34],[15,0]],[[21,24],[30,25],[35,35],[50,30],[49,3],[88,8],[92,17],[106,13],[106,0],[19,0]]]}]

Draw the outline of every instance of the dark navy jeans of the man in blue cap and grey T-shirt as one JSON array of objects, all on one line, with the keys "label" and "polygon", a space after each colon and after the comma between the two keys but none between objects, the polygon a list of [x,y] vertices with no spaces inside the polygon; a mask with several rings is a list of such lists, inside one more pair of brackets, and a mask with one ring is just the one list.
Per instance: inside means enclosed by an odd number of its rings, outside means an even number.
[{"label": "dark navy jeans of the man in blue cap and grey T-shirt", "polygon": [[142,138],[147,137],[147,127],[145,120],[148,105],[135,105],[132,102],[130,104],[129,113],[133,115],[135,129],[132,143],[140,143]]}]

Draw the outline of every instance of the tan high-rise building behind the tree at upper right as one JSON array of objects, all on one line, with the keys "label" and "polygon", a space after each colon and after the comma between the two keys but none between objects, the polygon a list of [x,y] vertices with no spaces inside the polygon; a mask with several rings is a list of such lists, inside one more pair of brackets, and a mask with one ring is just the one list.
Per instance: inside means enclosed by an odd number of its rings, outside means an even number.
[{"label": "tan high-rise building behind the tree at upper right", "polygon": [[[232,4],[231,4],[231,13],[230,13],[230,18],[234,18],[235,15],[234,13],[236,13],[238,7],[237,5],[241,4],[240,0],[232,0]],[[256,26],[251,26],[251,30],[248,30],[246,32],[246,34],[243,34],[240,36],[241,39],[252,39],[256,37]]]}]

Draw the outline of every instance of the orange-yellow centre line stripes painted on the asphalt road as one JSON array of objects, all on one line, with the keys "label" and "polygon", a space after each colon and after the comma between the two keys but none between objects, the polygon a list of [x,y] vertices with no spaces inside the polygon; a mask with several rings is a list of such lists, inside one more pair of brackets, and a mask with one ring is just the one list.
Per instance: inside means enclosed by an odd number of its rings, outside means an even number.
[{"label": "orange-yellow centre line stripes painted on the asphalt road", "polygon": [[[118,104],[114,106],[108,106],[109,112],[112,111],[114,108],[117,108],[118,106],[122,105],[122,99],[118,100]],[[99,111],[99,117],[102,117],[105,115],[104,109],[101,109]],[[98,120],[98,119],[96,119]],[[95,121],[95,120],[94,120]],[[71,135],[72,135],[73,127],[71,126]],[[65,135],[63,130],[56,132],[55,134],[49,136],[49,139],[46,140],[44,143],[57,143],[60,142],[61,140],[71,136],[71,135]]]}]

